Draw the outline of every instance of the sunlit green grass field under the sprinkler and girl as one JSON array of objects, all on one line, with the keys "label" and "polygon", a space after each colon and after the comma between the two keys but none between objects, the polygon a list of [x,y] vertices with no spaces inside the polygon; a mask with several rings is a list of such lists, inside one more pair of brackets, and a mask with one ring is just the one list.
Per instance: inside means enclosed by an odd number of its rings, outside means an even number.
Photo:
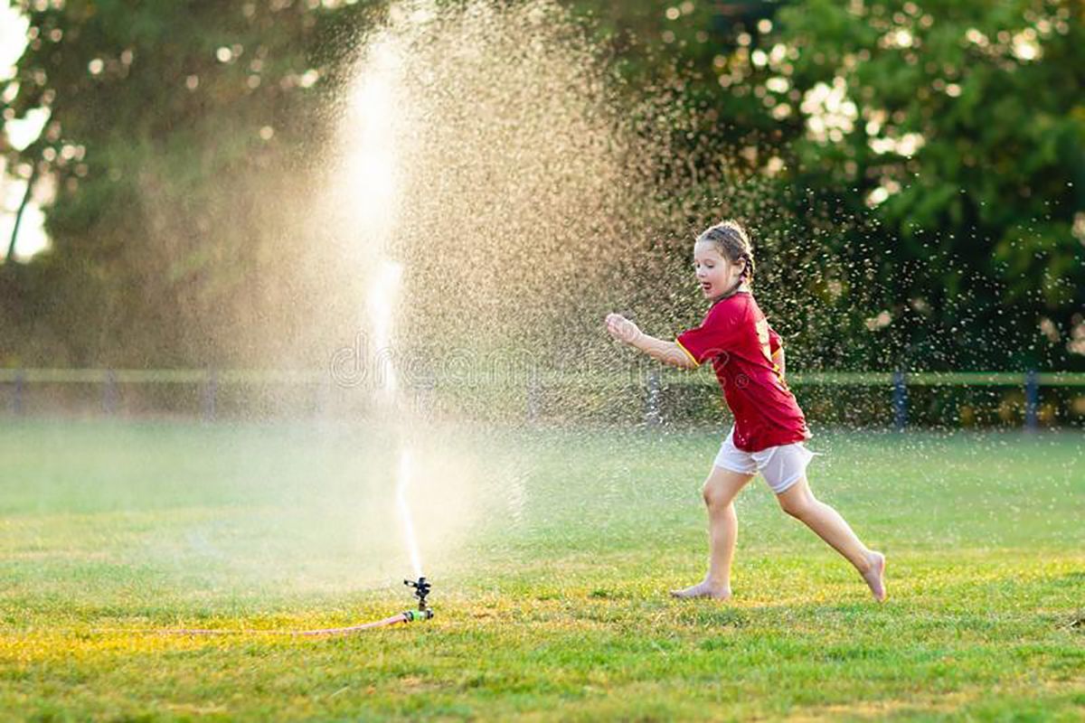
[{"label": "sunlit green grass field under the sprinkler and girl", "polygon": [[[718,435],[0,423],[0,714],[33,720],[1085,718],[1085,436],[824,434],[815,493],[889,557],[873,603],[758,478],[735,599]],[[162,635],[178,628],[251,631]]]}]

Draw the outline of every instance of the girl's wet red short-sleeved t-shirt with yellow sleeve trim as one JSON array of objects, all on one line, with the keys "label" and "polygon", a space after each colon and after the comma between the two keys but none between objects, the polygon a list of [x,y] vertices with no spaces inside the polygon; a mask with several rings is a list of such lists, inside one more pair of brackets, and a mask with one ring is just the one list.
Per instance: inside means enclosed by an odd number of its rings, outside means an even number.
[{"label": "girl's wet red short-sleeved t-shirt with yellow sleeve trim", "polygon": [[780,337],[749,292],[714,304],[701,325],[679,334],[677,343],[698,366],[712,360],[735,414],[740,450],[758,452],[809,439],[799,402],[773,362]]}]

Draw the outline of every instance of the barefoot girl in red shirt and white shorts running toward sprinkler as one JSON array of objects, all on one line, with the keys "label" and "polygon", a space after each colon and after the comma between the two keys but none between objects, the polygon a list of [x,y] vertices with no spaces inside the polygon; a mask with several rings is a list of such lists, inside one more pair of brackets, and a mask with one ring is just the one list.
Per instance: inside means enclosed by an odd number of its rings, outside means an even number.
[{"label": "barefoot girl in red shirt and white shorts running toward sprinkler", "polygon": [[869,550],[844,518],[810,492],[806,419],[783,380],[783,347],[751,293],[753,249],[745,230],[724,221],[693,245],[697,282],[712,307],[701,325],[665,341],[641,332],[621,314],[607,317],[607,330],[652,359],[681,369],[712,360],[735,426],[704,481],[709,507],[709,571],[700,583],[672,591],[675,597],[731,596],[731,559],[738,539],[735,498],[761,473],[783,512],[802,520],[859,571],[875,599],[885,599],[885,556]]}]

